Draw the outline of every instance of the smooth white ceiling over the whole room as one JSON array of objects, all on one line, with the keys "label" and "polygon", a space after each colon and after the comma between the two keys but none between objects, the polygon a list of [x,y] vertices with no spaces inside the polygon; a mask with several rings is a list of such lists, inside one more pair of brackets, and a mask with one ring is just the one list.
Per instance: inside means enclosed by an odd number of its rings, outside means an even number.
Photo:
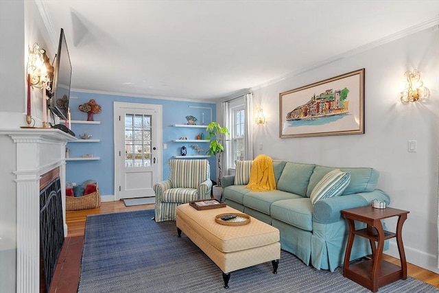
[{"label": "smooth white ceiling over the whole room", "polygon": [[36,0],[71,87],[230,97],[438,24],[439,1]]}]

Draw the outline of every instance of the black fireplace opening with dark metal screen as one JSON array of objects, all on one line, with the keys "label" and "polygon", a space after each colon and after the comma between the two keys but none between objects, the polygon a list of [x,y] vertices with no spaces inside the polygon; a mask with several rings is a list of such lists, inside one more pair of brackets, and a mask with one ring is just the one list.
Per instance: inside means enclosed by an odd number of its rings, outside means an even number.
[{"label": "black fireplace opening with dark metal screen", "polygon": [[40,191],[40,257],[46,292],[49,292],[56,263],[64,244],[60,177]]}]

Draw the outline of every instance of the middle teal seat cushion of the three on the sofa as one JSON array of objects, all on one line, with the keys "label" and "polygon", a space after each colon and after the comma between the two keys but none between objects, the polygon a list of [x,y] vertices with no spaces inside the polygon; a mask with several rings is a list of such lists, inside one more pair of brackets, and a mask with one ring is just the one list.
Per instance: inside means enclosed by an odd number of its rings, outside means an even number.
[{"label": "middle teal seat cushion of the three on the sofa", "polygon": [[297,194],[285,191],[250,191],[244,196],[243,204],[261,213],[270,215],[270,205],[278,200],[286,200],[291,198],[301,198]]}]

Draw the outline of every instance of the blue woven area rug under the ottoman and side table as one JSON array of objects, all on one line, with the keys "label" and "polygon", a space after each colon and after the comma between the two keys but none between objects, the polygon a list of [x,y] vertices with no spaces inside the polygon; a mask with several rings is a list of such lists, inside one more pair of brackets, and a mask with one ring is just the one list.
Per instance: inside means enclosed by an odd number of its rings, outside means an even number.
[{"label": "blue woven area rug under the ottoman and side table", "polygon": [[[278,274],[272,263],[231,273],[224,289],[222,272],[174,221],[156,223],[154,210],[88,215],[79,293],[95,292],[370,292],[335,272],[305,266],[281,251]],[[379,292],[439,292],[411,277]]]}]

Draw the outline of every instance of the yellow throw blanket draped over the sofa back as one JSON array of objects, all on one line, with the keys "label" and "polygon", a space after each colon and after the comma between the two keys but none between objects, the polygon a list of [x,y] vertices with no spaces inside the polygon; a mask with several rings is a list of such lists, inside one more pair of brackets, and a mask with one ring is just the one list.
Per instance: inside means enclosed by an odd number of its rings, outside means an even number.
[{"label": "yellow throw blanket draped over the sofa back", "polygon": [[270,156],[260,154],[254,158],[250,169],[250,180],[246,188],[252,191],[270,191],[276,189],[273,160]]}]

